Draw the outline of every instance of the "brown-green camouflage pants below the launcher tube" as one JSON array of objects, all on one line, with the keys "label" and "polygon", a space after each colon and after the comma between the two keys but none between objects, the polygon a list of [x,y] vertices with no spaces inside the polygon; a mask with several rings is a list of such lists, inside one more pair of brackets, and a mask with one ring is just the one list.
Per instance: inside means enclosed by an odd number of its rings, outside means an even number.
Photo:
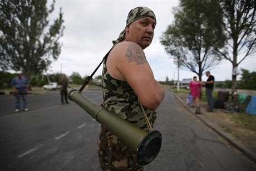
[{"label": "brown-green camouflage pants below the launcher tube", "polygon": [[101,133],[98,139],[98,155],[101,168],[104,171],[144,170],[136,162],[136,155],[132,149],[122,143],[119,138],[104,126],[101,126]]}]

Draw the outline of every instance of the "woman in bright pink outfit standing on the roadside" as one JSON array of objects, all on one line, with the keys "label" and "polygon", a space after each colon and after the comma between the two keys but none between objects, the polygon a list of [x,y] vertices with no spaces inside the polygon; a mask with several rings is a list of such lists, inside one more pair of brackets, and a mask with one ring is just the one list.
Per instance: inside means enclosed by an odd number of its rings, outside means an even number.
[{"label": "woman in bright pink outfit standing on the roadside", "polygon": [[194,76],[193,81],[189,83],[190,94],[193,97],[193,102],[192,102],[193,107],[195,107],[195,102],[196,102],[196,107],[199,108],[199,97],[200,97],[201,86],[202,86],[201,83],[199,81],[196,81],[196,76]]}]

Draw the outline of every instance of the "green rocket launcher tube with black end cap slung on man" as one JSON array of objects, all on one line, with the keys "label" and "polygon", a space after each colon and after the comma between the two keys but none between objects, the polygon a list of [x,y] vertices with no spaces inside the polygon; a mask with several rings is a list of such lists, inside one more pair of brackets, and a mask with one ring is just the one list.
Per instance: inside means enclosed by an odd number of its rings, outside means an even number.
[{"label": "green rocket launcher tube with black end cap slung on man", "polygon": [[162,142],[159,131],[143,131],[132,125],[132,123],[110,112],[107,108],[88,99],[80,91],[72,90],[68,94],[68,97],[133,149],[136,152],[137,162],[140,165],[150,163],[159,153]]}]

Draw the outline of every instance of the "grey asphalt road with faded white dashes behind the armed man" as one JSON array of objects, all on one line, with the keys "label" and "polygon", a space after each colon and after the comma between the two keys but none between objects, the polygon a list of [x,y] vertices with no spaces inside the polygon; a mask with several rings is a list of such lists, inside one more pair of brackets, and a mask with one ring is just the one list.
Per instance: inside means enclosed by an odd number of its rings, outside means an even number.
[{"label": "grey asphalt road with faded white dashes behind the armed man", "polygon": [[[100,90],[85,90],[102,101]],[[0,170],[101,170],[100,123],[76,103],[61,105],[58,91],[28,95],[28,112],[14,112],[14,97],[0,96]],[[145,170],[255,170],[252,163],[187,111],[168,90],[154,129],[161,151]]]}]

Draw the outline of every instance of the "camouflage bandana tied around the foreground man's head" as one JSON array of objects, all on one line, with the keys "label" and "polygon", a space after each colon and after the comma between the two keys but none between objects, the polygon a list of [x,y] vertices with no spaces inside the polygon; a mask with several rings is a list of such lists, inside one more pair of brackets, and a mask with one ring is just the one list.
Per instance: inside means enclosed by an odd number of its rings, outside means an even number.
[{"label": "camouflage bandana tied around the foreground man's head", "polygon": [[[150,17],[156,20],[154,12],[152,12],[151,9],[147,7],[136,7],[134,9],[131,9],[126,20],[125,27],[130,25],[135,20],[144,18],[144,17]],[[125,29],[120,33],[119,38],[117,40],[113,40],[112,42],[114,45],[116,45],[117,43],[122,42],[122,40],[124,39],[125,39]]]}]

